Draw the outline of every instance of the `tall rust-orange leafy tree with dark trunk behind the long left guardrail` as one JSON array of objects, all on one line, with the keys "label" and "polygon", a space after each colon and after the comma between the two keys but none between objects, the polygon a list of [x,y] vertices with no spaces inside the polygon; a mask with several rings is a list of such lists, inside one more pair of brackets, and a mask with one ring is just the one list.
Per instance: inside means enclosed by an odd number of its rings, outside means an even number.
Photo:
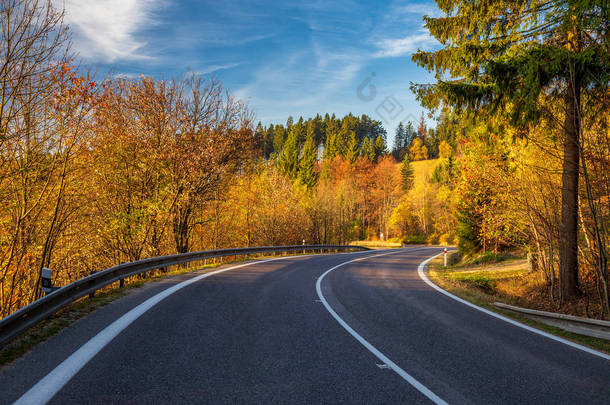
[{"label": "tall rust-orange leafy tree with dark trunk behind the long left guardrail", "polygon": [[183,125],[173,137],[171,156],[176,202],[173,234],[178,253],[189,251],[195,210],[215,187],[239,169],[253,145],[252,117],[246,106],[220,83],[201,75],[183,79]]}]

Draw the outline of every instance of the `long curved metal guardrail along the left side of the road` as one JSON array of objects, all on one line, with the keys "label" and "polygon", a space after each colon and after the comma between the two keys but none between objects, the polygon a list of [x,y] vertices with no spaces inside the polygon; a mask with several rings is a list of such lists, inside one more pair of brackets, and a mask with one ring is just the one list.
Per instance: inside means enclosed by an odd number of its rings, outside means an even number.
[{"label": "long curved metal guardrail along the left side of the road", "polygon": [[65,287],[58,288],[43,298],[40,298],[28,306],[23,307],[1,319],[0,345],[5,344],[11,339],[17,337],[27,329],[35,326],[42,320],[48,318],[77,299],[93,293],[109,284],[127,277],[145,273],[147,271],[217,257],[318,250],[320,252],[330,252],[332,250],[350,251],[369,249],[362,246],[345,245],[263,246],[252,248],[205,250],[201,252],[189,252],[170,256],[153,257],[135,262],[119,264],[117,266],[91,274],[85,278],[76,280]]}]

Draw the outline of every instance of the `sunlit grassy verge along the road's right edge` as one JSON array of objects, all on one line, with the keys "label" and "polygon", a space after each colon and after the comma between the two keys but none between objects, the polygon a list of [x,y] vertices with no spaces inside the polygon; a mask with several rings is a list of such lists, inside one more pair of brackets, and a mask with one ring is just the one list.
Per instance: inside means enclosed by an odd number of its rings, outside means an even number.
[{"label": "sunlit grassy verge along the road's right edge", "polygon": [[493,305],[496,301],[502,301],[511,305],[523,306],[509,295],[503,295],[496,289],[498,283],[503,280],[523,277],[526,271],[522,265],[522,260],[510,260],[508,263],[487,264],[485,266],[462,265],[444,268],[442,258],[437,258],[430,262],[428,275],[438,286],[475,305],[567,340],[610,354],[610,341],[568,332],[554,326],[533,321],[514,312],[498,309]]}]

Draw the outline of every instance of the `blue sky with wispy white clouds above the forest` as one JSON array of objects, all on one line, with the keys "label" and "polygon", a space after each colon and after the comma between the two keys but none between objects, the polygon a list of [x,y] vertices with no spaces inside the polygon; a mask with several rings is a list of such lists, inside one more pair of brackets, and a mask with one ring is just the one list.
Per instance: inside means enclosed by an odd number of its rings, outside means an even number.
[{"label": "blue sky with wispy white clouds above the forest", "polygon": [[56,0],[73,50],[99,73],[221,80],[263,123],[352,112],[390,136],[422,108],[409,90],[433,78],[410,60],[438,43],[422,26],[433,2]]}]

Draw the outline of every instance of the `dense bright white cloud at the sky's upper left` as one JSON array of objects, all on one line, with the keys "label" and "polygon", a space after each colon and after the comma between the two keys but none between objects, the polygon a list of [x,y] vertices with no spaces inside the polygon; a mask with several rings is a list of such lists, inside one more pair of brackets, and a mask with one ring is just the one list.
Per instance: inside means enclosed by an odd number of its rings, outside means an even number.
[{"label": "dense bright white cloud at the sky's upper left", "polygon": [[102,62],[149,59],[138,33],[157,24],[154,12],[165,0],[54,0],[65,5],[64,22],[73,32],[75,50]]}]

